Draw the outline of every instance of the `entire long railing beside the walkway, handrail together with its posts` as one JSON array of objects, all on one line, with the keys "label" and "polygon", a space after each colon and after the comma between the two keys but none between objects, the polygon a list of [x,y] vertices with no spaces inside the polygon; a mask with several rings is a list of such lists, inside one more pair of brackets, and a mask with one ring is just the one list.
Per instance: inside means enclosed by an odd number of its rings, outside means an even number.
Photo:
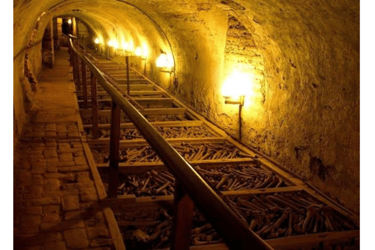
[{"label": "entire long railing beside the walkway, handrail together with its posts", "polygon": [[125,112],[139,129],[148,144],[176,179],[174,212],[172,217],[172,250],[187,250],[190,245],[194,204],[217,230],[229,249],[271,250],[271,246],[249,229],[236,213],[208,185],[199,173],[171,146],[146,118],[107,81],[103,72],[69,40],[69,52],[73,65],[74,80],[80,89],[79,58],[82,60],[83,99],[87,102],[86,65],[91,71],[91,109],[93,133],[98,130],[97,82],[112,99],[109,146],[109,197],[117,196],[117,175],[120,150],[120,116]]}]

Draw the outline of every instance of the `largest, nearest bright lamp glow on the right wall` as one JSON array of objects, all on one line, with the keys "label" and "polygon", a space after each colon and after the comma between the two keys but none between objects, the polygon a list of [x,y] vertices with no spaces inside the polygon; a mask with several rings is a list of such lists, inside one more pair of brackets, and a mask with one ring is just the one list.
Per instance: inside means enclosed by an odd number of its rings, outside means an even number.
[{"label": "largest, nearest bright lamp glow on the right wall", "polygon": [[245,96],[245,99],[250,100],[254,95],[252,88],[253,79],[251,74],[235,70],[223,83],[221,93],[223,96],[230,97],[233,100],[238,100],[240,96]]}]

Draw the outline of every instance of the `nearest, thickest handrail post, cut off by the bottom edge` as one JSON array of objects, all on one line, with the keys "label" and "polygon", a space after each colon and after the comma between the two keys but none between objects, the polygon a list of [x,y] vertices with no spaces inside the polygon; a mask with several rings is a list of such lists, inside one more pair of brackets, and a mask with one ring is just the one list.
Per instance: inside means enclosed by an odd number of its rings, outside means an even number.
[{"label": "nearest, thickest handrail post, cut off by the bottom edge", "polygon": [[194,203],[176,180],[170,250],[189,250]]}]

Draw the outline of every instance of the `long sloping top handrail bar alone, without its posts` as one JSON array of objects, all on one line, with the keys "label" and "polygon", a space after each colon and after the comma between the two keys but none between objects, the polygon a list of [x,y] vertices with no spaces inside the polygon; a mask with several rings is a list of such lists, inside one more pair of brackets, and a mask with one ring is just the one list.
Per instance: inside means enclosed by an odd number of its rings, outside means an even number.
[{"label": "long sloping top handrail bar alone, without its posts", "polygon": [[272,250],[271,246],[249,229],[199,173],[167,142],[146,118],[104,78],[101,70],[86,58],[70,40],[71,49],[90,68],[92,74],[128,118],[139,129],[148,144],[172,172],[194,204],[200,208],[229,249]]}]

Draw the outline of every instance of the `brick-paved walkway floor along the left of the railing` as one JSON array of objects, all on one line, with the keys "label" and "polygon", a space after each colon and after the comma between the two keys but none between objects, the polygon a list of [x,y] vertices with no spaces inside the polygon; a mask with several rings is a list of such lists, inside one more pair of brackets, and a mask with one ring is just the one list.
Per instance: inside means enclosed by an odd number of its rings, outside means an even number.
[{"label": "brick-paved walkway floor along the left of the railing", "polygon": [[14,151],[14,249],[114,249],[83,150],[66,50],[43,69]]}]

